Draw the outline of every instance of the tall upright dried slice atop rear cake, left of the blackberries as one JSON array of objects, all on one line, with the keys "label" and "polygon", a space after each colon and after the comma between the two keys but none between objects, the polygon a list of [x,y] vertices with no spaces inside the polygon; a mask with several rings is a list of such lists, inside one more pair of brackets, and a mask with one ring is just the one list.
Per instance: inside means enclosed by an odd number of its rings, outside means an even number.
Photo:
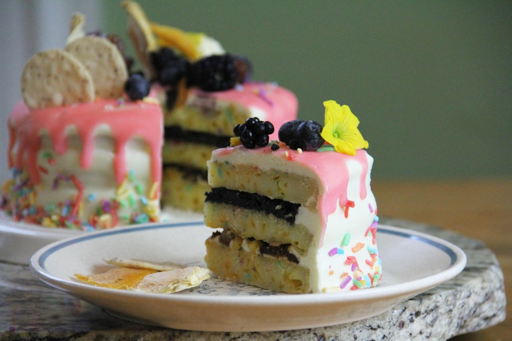
[{"label": "tall upright dried slice atop rear cake, left of the blackberries", "polygon": [[158,49],[158,43],[153,35],[150,23],[142,8],[134,1],[125,0],[122,8],[128,14],[128,36],[133,43],[137,58],[144,69],[147,79],[156,77],[156,72],[151,63],[151,52]]}]

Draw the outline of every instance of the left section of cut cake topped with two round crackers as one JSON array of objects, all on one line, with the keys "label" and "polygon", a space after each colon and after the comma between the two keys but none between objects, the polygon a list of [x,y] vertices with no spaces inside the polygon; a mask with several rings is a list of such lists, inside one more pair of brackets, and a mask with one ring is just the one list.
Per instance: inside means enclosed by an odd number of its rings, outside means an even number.
[{"label": "left section of cut cake topped with two round crackers", "polygon": [[66,46],[24,67],[2,208],[16,221],[70,229],[157,221],[161,107],[129,76],[116,39],[83,25],[74,15]]}]

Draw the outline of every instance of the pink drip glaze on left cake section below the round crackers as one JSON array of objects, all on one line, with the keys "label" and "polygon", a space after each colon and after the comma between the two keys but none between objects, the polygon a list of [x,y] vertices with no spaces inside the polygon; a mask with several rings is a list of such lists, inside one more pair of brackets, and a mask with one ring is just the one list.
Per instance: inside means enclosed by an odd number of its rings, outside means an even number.
[{"label": "pink drip glaze on left cake section below the round crackers", "polygon": [[[24,160],[34,184],[40,181],[37,153],[41,148],[41,133],[47,131],[57,154],[66,153],[66,129],[76,128],[82,141],[80,166],[91,166],[94,151],[94,132],[100,125],[108,125],[115,144],[114,173],[118,184],[126,175],[126,143],[135,137],[142,138],[151,150],[153,182],[160,183],[162,147],[162,111],[157,103],[124,100],[97,100],[90,103],[30,110],[18,102],[8,120],[9,167],[22,169]],[[158,130],[155,127],[159,127]],[[16,151],[12,151],[15,143]]]}]

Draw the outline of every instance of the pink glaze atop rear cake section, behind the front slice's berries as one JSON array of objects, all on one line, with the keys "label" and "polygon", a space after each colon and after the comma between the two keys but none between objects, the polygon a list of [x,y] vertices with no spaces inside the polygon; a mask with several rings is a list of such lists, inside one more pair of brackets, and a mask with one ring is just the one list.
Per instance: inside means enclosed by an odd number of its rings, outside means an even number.
[{"label": "pink glaze atop rear cake section, behind the front slice's berries", "polygon": [[190,90],[196,96],[239,103],[248,108],[257,108],[266,112],[266,121],[272,122],[274,133],[270,140],[278,139],[278,130],[285,122],[297,118],[298,101],[288,89],[275,83],[248,82],[230,90],[206,93],[199,88]]}]

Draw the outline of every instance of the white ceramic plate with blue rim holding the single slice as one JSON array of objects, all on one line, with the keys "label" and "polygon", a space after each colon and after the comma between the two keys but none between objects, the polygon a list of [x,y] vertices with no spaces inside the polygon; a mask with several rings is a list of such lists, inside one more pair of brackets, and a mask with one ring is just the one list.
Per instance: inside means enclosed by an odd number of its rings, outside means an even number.
[{"label": "white ceramic plate with blue rim holding the single slice", "polygon": [[103,258],[204,265],[201,222],[140,225],[93,232],[43,247],[31,268],[43,282],[104,308],[122,319],[187,330],[270,331],[313,328],[380,314],[397,302],[454,278],[465,266],[460,248],[442,239],[379,225],[383,282],[346,293],[289,295],[212,278],[175,294],[95,287],[73,274],[106,269]]}]

